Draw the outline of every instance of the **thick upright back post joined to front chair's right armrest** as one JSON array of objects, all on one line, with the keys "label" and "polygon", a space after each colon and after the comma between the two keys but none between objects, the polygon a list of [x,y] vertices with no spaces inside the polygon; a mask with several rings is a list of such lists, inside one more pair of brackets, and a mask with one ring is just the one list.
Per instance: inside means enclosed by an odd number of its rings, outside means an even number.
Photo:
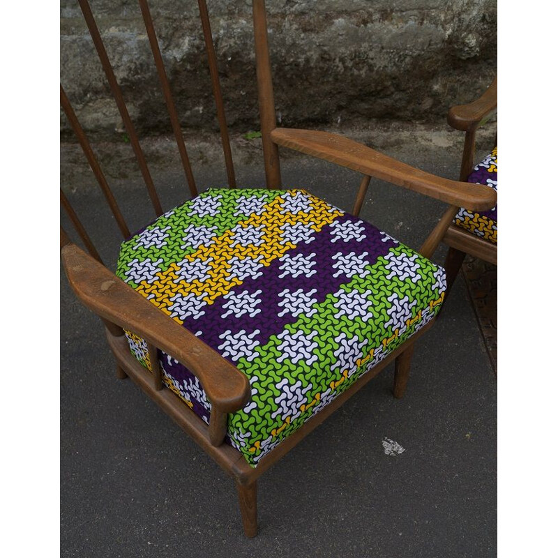
[{"label": "thick upright back post joined to front chair's right armrest", "polygon": [[279,150],[271,140],[271,131],[276,128],[275,100],[273,100],[273,82],[271,80],[271,62],[267,41],[266,3],[253,0],[254,40],[256,50],[256,75],[259,102],[259,120],[262,126],[262,144],[266,184],[268,188],[281,187],[281,170],[279,167]]}]

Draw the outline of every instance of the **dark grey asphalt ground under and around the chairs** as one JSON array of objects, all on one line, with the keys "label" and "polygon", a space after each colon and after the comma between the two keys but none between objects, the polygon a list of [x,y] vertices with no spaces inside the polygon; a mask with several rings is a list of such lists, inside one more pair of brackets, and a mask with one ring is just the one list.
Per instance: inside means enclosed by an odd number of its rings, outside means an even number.
[{"label": "dark grey asphalt ground under and around the chairs", "polygon": [[[430,172],[458,174],[456,144],[411,134],[388,147],[384,152]],[[479,147],[490,149],[490,140]],[[72,149],[63,150],[63,163]],[[282,171],[285,186],[350,211],[355,173],[306,156],[288,157]],[[83,183],[91,181],[86,172]],[[221,167],[206,163],[196,172],[201,190],[224,183]],[[261,160],[241,165],[237,177],[242,187],[261,187]],[[98,190],[80,188],[79,178],[73,172],[73,183],[63,186],[75,190],[75,209],[114,269],[114,218]],[[154,178],[165,209],[188,198],[176,165],[159,165]],[[151,220],[137,176],[115,181],[130,228]],[[361,216],[418,248],[443,209],[373,181]],[[62,223],[68,226],[64,217]],[[440,248],[434,259],[442,264],[444,255]],[[462,274],[416,345],[405,398],[391,395],[389,365],[266,472],[253,539],[243,536],[232,480],[114,370],[100,320],[62,274],[63,557],[496,555],[496,378]],[[386,439],[405,451],[386,455]]]}]

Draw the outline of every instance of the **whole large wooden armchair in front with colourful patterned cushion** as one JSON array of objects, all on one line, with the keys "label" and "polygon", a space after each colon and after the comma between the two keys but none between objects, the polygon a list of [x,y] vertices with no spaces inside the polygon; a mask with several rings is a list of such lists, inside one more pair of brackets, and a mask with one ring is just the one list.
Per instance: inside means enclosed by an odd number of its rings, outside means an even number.
[{"label": "whole large wooden armchair in front with colourful patterned cushion", "polygon": [[[80,6],[146,181],[156,220],[130,234],[70,102],[61,105],[124,241],[116,275],[61,191],[89,255],[61,231],[61,257],[78,299],[103,320],[116,375],[142,388],[234,478],[244,531],[254,536],[256,480],[395,360],[405,391],[414,342],[444,300],[430,256],[459,206],[495,204],[486,186],[433,176],[339,135],[276,126],[264,0],[252,2],[267,188],[236,188],[205,0],[199,10],[229,188],[198,195],[146,0],[140,0],[191,199],[163,213],[100,33]],[[279,146],[448,204],[415,252],[307,193],[280,190]]]}]

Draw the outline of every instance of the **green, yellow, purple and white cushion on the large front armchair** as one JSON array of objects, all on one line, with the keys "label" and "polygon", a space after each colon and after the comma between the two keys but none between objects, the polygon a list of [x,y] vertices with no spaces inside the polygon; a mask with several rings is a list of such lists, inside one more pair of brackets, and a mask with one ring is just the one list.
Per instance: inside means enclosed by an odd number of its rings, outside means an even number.
[{"label": "green, yellow, purple and white cushion on the large front armchair", "polygon": [[[227,430],[252,466],[429,322],[446,289],[444,269],[303,190],[207,190],[125,241],[116,274],[250,379]],[[198,380],[159,357],[208,422]]]}]

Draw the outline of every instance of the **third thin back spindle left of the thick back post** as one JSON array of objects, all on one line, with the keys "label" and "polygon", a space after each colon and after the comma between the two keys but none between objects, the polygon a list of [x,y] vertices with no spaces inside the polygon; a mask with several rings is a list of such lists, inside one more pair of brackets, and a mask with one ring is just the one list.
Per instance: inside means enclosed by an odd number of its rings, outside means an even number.
[{"label": "third thin back spindle left of the thick back post", "polygon": [[118,82],[116,81],[116,76],[114,75],[109,57],[107,56],[105,45],[103,45],[103,39],[100,37],[95,18],[93,17],[93,13],[91,12],[88,1],[78,1],[80,2],[80,8],[82,8],[85,22],[89,29],[89,33],[91,34],[91,38],[93,39],[93,45],[95,45],[95,48],[97,50],[100,63],[103,66],[103,70],[105,70],[105,75],[107,76],[112,95],[114,96],[114,100],[116,101],[116,106],[118,107],[118,110],[122,117],[124,127],[126,128],[126,132],[128,132],[128,137],[130,137],[130,144],[132,145],[132,149],[134,150],[137,164],[140,165],[140,171],[142,172],[147,192],[149,193],[149,197],[151,198],[153,209],[155,209],[157,216],[160,216],[163,213],[163,208],[161,207],[159,197],[157,195],[157,190],[153,185],[153,179],[151,179],[151,174],[149,173],[149,168],[147,167],[145,156],[142,151],[142,147],[140,146],[140,141],[137,139],[134,125],[130,119],[130,114],[128,114],[126,103],[124,103],[122,91]]}]

